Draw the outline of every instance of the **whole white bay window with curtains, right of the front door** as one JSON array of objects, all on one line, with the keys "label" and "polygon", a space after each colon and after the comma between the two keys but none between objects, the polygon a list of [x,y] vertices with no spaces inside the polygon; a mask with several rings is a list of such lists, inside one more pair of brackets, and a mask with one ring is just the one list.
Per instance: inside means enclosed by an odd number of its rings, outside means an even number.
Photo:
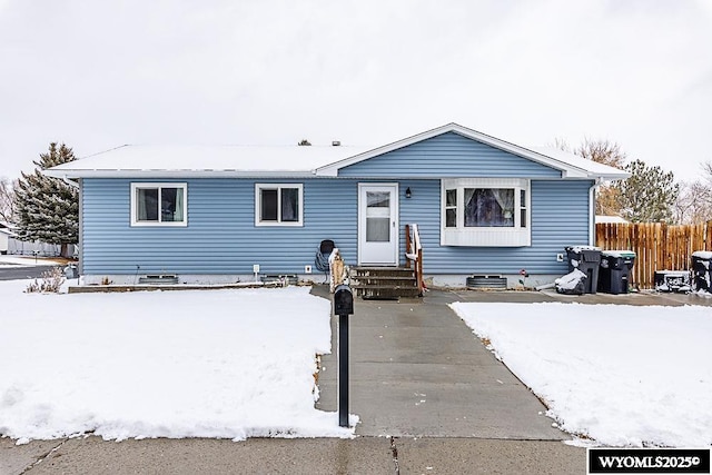
[{"label": "whole white bay window with curtains, right of the front door", "polygon": [[530,181],[520,178],[442,180],[443,246],[530,246]]}]

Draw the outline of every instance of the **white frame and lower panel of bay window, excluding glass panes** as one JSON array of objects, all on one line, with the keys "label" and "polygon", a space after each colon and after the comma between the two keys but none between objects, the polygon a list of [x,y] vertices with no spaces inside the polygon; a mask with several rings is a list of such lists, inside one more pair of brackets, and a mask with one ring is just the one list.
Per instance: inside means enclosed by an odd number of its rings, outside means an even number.
[{"label": "white frame and lower panel of bay window, excluding glass panes", "polygon": [[[465,188],[514,189],[513,227],[465,227]],[[446,227],[446,191],[457,190],[456,226]],[[521,190],[525,191],[526,206],[521,206]],[[521,210],[526,211],[525,226],[521,226]],[[531,182],[523,178],[453,178],[441,180],[441,246],[467,247],[525,247],[532,245]]]}]

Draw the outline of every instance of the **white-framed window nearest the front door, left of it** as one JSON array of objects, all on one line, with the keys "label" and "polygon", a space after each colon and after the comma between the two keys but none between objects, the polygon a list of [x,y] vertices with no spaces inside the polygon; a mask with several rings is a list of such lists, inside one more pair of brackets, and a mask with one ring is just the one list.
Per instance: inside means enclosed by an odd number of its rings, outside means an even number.
[{"label": "white-framed window nearest the front door, left of it", "polygon": [[255,226],[303,226],[301,184],[256,184]]}]

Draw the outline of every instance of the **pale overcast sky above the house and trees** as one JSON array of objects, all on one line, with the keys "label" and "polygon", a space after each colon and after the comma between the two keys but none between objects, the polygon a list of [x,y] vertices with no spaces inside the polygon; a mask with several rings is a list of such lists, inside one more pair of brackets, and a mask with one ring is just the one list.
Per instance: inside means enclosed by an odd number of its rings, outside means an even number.
[{"label": "pale overcast sky above the house and trees", "polygon": [[452,121],[692,179],[712,0],[0,0],[0,177],[50,141],[380,146]]}]

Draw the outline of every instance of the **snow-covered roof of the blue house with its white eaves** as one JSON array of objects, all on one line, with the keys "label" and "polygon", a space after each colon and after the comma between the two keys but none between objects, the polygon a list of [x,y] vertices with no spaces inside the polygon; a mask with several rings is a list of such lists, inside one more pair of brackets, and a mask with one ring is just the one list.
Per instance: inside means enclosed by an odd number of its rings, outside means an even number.
[{"label": "snow-covered roof of the blue house with its white eaves", "polygon": [[564,178],[623,179],[630,174],[555,148],[524,148],[457,123],[380,146],[122,146],[52,167],[58,178],[338,176],[349,165],[453,131],[562,170]]}]

